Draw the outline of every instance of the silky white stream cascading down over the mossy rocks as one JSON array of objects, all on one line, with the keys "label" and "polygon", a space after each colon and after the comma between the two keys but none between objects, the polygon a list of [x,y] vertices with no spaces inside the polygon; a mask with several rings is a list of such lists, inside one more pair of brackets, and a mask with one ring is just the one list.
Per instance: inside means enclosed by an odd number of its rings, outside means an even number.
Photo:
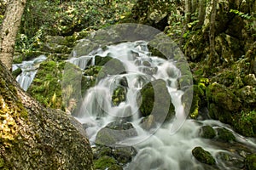
[{"label": "silky white stream cascading down over the mossy rocks", "polygon": [[[242,137],[221,122],[209,119],[185,120],[187,115],[182,105],[184,93],[179,89],[177,82],[181,71],[176,67],[174,60],[151,56],[148,52],[147,42],[122,42],[109,45],[107,48],[99,48],[91,54],[79,58],[73,57],[68,61],[84,70],[90,65],[95,65],[96,56],[102,58],[110,56],[112,59],[119,59],[125,66],[125,71],[119,69],[114,74],[97,79],[96,85],[87,90],[82,105],[75,115],[79,122],[86,127],[92,146],[97,144],[97,133],[102,128],[108,127],[109,123],[132,124],[131,133],[136,133],[136,135],[129,138],[126,136],[127,138],[116,143],[108,143],[108,139],[106,139],[108,146],[131,145],[137,150],[137,155],[131,162],[124,165],[126,170],[241,169],[245,148],[256,149],[253,139]],[[28,88],[36,74],[34,65],[44,59],[45,57],[41,56],[32,61],[23,62],[21,65],[14,65],[19,66],[22,70],[22,74],[17,77],[22,88],[25,90]],[[110,64],[108,65],[108,63]],[[116,66],[111,62],[108,63],[106,64],[108,67]],[[175,117],[165,124],[163,124],[165,118],[163,117],[160,122],[156,122],[156,126],[149,130],[144,129],[143,116],[139,111],[138,95],[145,84],[159,79],[166,82],[167,92],[175,107]],[[125,99],[118,105],[113,105],[112,96],[114,90],[119,86],[125,88]],[[235,135],[237,142],[224,143],[218,140],[202,139],[199,137],[199,132],[205,125],[214,129],[225,127]],[[108,130],[118,136],[124,136],[123,130],[110,128]],[[216,161],[216,166],[211,167],[195,160],[192,150],[196,146],[201,146],[204,150],[209,151]],[[224,156],[226,157],[225,161]]]}]

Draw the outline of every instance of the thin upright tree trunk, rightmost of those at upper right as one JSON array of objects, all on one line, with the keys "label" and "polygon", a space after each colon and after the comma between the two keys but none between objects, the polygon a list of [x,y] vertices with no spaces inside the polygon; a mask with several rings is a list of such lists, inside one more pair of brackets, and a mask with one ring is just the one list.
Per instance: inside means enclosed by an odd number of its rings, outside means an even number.
[{"label": "thin upright tree trunk, rightmost of those at upper right", "polygon": [[208,59],[209,66],[213,66],[213,60],[215,58],[215,19],[216,19],[217,1],[218,0],[212,0],[212,14],[211,14],[211,20],[210,20],[210,33],[209,33],[209,39],[210,39],[210,55]]}]

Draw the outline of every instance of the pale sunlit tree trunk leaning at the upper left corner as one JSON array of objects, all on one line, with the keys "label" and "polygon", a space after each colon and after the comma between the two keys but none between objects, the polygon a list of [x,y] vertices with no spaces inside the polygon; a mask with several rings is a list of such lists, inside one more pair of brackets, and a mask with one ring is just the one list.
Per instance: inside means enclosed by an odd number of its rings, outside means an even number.
[{"label": "pale sunlit tree trunk leaning at the upper left corner", "polygon": [[4,14],[0,39],[0,60],[12,68],[13,55],[15,53],[15,37],[19,30],[21,17],[26,5],[26,0],[10,0]]}]

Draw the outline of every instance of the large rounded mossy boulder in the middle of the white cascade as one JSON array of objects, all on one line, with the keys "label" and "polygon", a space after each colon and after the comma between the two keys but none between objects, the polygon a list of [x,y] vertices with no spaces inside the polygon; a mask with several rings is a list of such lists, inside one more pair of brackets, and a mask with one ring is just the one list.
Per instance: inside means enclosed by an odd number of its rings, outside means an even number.
[{"label": "large rounded mossy boulder in the middle of the white cascade", "polygon": [[142,116],[154,115],[155,121],[170,120],[175,115],[172,99],[166,88],[166,82],[155,80],[148,82],[137,97]]}]

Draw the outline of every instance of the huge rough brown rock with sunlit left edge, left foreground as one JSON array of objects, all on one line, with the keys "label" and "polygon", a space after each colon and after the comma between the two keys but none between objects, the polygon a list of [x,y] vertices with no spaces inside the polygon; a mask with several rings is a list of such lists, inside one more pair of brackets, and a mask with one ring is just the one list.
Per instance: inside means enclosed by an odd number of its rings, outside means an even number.
[{"label": "huge rough brown rock with sunlit left edge, left foreground", "polygon": [[92,169],[92,151],[79,122],[39,105],[16,88],[2,64],[0,70],[0,167]]}]

